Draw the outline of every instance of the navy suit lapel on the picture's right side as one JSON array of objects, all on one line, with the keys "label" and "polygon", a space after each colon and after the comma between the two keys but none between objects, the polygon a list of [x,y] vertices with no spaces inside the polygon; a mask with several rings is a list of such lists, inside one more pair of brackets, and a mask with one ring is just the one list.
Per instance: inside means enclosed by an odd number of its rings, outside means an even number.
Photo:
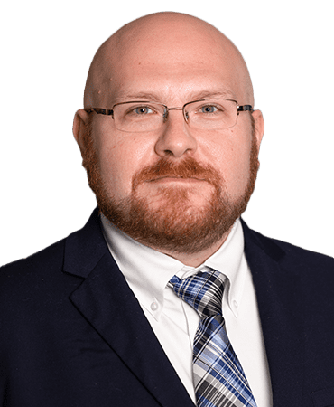
[{"label": "navy suit lapel on the picture's right side", "polygon": [[302,284],[284,267],[285,252],[243,222],[272,382],[274,406],[300,405],[302,396]]}]

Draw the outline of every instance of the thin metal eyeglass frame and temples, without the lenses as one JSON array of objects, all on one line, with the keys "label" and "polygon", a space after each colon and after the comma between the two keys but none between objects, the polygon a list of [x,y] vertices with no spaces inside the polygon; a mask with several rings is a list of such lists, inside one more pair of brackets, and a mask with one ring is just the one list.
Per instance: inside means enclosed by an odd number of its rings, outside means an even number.
[{"label": "thin metal eyeglass frame and temples, without the lenses", "polygon": [[[168,118],[168,113],[169,113],[170,110],[182,110],[183,118],[184,118],[185,122],[188,124],[188,118],[187,118],[187,114],[186,114],[186,111],[185,111],[185,107],[187,105],[190,105],[191,103],[196,103],[196,102],[199,102],[199,101],[206,101],[206,100],[208,100],[208,99],[192,100],[190,102],[185,103],[182,107],[175,107],[175,108],[169,108],[168,106],[164,105],[163,103],[153,102],[151,100],[131,100],[131,101],[126,101],[126,102],[115,103],[115,105],[113,105],[112,109],[90,108],[90,109],[87,109],[86,111],[88,113],[91,113],[91,112],[95,111],[97,114],[101,114],[101,115],[105,115],[105,116],[111,116],[113,119],[115,119],[114,118],[114,109],[118,105],[126,105],[126,104],[130,104],[130,103],[153,103],[154,105],[163,106],[163,108],[165,109],[165,111],[163,113],[163,123],[166,122],[166,120]],[[235,100],[235,99],[223,99],[223,100],[233,101],[233,102],[235,102],[237,104],[237,116],[239,116],[240,111],[254,111],[252,105],[241,105],[241,106],[239,106],[238,103],[237,103],[237,100]],[[208,101],[212,101],[212,100],[208,100]],[[236,123],[233,126],[231,126],[230,128],[233,128],[234,126],[236,126],[236,124],[237,124],[237,120],[236,120]],[[125,130],[119,130],[119,131],[125,131]]]}]

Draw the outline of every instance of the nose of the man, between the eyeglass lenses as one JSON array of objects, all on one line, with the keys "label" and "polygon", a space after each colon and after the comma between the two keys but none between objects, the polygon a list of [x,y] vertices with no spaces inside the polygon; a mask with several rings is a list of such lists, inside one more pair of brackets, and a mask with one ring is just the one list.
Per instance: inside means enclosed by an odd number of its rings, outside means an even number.
[{"label": "nose of the man, between the eyeglass lenses", "polygon": [[163,124],[161,134],[155,144],[158,156],[173,156],[180,158],[196,151],[197,141],[186,124],[182,111],[170,110]]}]

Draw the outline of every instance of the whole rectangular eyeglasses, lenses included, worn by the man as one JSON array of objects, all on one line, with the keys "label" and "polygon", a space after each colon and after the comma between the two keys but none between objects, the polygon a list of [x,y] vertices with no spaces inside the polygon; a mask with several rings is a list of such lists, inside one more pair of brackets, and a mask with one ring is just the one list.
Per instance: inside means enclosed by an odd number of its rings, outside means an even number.
[{"label": "whole rectangular eyeglasses, lenses included, worn by the man", "polygon": [[251,105],[238,106],[237,100],[195,100],[182,108],[168,108],[162,103],[150,101],[128,101],[116,103],[112,109],[92,108],[98,114],[111,116],[120,131],[144,133],[162,128],[171,110],[182,110],[183,118],[190,128],[223,130],[233,128],[240,111],[253,111]]}]

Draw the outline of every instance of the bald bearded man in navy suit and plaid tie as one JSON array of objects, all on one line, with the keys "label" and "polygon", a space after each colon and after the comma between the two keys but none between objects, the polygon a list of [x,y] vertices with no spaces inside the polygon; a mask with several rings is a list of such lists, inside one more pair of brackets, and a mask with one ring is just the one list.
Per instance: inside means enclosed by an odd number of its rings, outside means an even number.
[{"label": "bald bearded man in navy suit and plaid tie", "polygon": [[[148,14],[97,49],[73,134],[98,208],[0,273],[4,406],[334,404],[334,260],[240,219],[254,104],[241,53],[197,17]],[[184,300],[202,276],[220,322]]]}]

